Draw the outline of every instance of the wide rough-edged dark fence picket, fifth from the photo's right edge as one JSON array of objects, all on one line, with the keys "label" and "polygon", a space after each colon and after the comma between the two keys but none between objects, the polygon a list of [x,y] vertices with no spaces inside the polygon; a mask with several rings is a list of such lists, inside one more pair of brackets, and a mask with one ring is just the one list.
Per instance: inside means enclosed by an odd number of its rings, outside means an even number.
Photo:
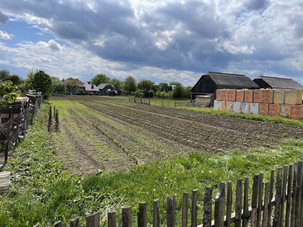
[{"label": "wide rough-edged dark fence picket, fifth from the photo's right edge", "polygon": [[282,167],[278,168],[277,179],[276,179],[276,195],[275,195],[275,212],[272,220],[272,227],[277,227],[280,220],[281,211],[281,194],[282,194]]}]

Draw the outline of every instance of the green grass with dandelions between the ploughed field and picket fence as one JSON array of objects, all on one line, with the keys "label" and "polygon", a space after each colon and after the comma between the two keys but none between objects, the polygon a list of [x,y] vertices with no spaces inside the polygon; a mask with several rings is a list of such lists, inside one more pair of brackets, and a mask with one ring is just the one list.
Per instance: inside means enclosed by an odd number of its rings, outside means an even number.
[{"label": "green grass with dandelions between the ploughed field and picket fence", "polygon": [[[109,210],[116,210],[117,224],[122,226],[121,207],[132,206],[133,226],[136,226],[138,202],[146,201],[148,222],[152,220],[152,199],[160,200],[160,220],[165,225],[166,197],[176,194],[177,225],[180,225],[182,193],[198,188],[198,224],[202,221],[203,193],[213,186],[213,196],[221,181],[250,177],[262,171],[268,181],[270,170],[302,159],[303,140],[284,140],[275,149],[254,148],[218,154],[190,153],[173,156],[163,162],[153,161],[133,166],[128,171],[107,172],[81,178],[62,171],[62,163],[53,154],[50,134],[45,127],[48,105],[43,104],[25,140],[5,166],[12,173],[8,195],[0,196],[0,226],[52,226],[100,211],[106,226]],[[190,193],[191,194],[191,193]],[[251,196],[249,197],[251,198]],[[191,201],[190,201],[191,202]],[[190,224],[190,223],[189,223]]]}]

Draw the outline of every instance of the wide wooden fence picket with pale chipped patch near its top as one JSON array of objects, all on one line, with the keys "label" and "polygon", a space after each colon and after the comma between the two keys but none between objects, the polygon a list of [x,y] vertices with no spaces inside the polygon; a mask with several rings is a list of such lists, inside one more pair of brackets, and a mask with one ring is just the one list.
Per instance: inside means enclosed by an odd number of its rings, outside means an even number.
[{"label": "wide wooden fence picket with pale chipped patch near its top", "polygon": [[215,227],[224,226],[225,183],[221,182],[219,192],[215,197]]}]

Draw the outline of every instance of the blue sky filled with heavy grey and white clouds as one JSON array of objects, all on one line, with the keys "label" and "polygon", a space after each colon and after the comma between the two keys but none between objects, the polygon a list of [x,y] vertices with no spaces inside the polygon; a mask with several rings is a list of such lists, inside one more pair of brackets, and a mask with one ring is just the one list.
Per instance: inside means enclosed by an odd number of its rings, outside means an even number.
[{"label": "blue sky filled with heavy grey and white clouds", "polygon": [[0,69],[186,86],[213,71],[303,85],[303,1],[1,0]]}]

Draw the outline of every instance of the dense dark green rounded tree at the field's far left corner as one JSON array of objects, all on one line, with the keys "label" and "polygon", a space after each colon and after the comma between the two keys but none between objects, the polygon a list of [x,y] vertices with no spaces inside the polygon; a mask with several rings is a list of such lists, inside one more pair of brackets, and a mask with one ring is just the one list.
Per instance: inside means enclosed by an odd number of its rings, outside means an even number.
[{"label": "dense dark green rounded tree at the field's far left corner", "polygon": [[36,71],[32,78],[31,84],[34,90],[41,92],[42,94],[52,92],[52,79],[48,74],[45,73],[45,71]]}]

